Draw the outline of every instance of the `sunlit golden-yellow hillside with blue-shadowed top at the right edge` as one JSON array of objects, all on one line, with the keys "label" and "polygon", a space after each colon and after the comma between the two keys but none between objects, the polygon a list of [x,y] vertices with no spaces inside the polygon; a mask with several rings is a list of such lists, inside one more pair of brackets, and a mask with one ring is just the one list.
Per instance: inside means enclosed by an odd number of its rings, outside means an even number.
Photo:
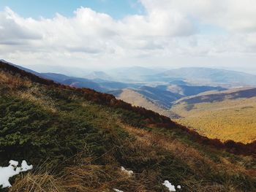
[{"label": "sunlit golden-yellow hillside with blue-shadowed top at the right edge", "polygon": [[171,110],[182,117],[177,122],[207,137],[244,143],[256,139],[255,88],[183,98]]}]

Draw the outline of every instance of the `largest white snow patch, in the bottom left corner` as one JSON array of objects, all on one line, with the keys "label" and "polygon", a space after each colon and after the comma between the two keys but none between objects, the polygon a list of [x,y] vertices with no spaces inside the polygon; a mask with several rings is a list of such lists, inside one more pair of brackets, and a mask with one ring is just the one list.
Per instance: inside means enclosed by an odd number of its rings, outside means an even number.
[{"label": "largest white snow patch, in the bottom left corner", "polygon": [[28,165],[25,160],[22,161],[21,166],[18,166],[18,161],[9,161],[9,166],[0,166],[0,188],[10,188],[12,185],[9,182],[10,177],[26,172],[32,169],[32,165]]}]

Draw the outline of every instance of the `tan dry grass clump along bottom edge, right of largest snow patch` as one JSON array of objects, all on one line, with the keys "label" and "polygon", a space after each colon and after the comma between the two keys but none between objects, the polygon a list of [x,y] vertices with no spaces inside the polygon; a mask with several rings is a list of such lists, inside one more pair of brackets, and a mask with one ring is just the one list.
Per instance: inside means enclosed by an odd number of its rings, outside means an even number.
[{"label": "tan dry grass clump along bottom edge, right of largest snow patch", "polygon": [[126,191],[146,192],[146,179],[137,174],[129,176],[116,164],[92,164],[92,158],[83,158],[76,165],[66,167],[59,174],[37,171],[15,180],[10,192],[99,192]]}]

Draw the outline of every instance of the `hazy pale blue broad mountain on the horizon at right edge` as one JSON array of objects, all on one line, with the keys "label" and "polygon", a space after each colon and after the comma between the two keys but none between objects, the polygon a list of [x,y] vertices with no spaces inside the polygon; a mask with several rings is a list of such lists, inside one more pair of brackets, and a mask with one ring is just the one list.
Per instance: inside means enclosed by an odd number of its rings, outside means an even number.
[{"label": "hazy pale blue broad mountain on the horizon at right edge", "polygon": [[200,67],[172,69],[148,76],[147,79],[164,82],[185,80],[186,82],[198,83],[200,85],[208,85],[211,83],[218,85],[256,85],[256,75],[254,74]]}]

